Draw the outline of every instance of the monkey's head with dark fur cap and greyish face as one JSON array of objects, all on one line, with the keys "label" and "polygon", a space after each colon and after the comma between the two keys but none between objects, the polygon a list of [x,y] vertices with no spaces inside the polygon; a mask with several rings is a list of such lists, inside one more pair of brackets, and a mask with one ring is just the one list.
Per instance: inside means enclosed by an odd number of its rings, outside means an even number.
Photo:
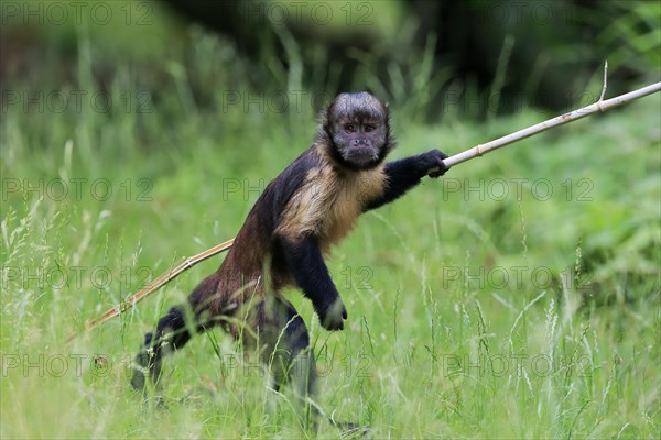
[{"label": "monkey's head with dark fur cap and greyish face", "polygon": [[340,165],[372,168],[394,147],[388,106],[366,91],[340,94],[322,111],[317,140]]}]

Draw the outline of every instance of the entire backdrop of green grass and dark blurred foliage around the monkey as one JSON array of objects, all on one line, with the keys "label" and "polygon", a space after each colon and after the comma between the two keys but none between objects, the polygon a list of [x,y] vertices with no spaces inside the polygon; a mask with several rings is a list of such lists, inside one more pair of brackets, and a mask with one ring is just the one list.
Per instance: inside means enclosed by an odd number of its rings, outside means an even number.
[{"label": "entire backdrop of green grass and dark blurred foliage around the monkey", "polygon": [[[0,20],[2,438],[313,436],[220,331],[166,364],[166,408],[130,388],[143,333],[221,257],[64,341],[232,238],[338,91],[390,102],[403,157],[592,103],[605,59],[607,97],[661,78],[657,1],[4,1]],[[375,438],[658,438],[660,105],[366,215],[328,262],[348,328],[288,294],[321,407]]]}]

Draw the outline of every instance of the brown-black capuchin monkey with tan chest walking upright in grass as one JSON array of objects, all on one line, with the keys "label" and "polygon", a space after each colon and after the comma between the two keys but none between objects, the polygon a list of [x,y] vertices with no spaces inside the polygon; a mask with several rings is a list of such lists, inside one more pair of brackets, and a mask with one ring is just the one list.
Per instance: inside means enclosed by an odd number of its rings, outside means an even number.
[{"label": "brown-black capuchin monkey with tan chest walking upright in grass", "polygon": [[316,140],[267,186],[220,267],[147,333],[134,388],[145,376],[158,382],[164,354],[220,326],[260,353],[273,389],[291,382],[303,402],[314,396],[310,336],[282,289],[300,289],[324,328],[343,330],[347,309],[324,256],[362,212],[446,170],[438,150],[384,163],[394,147],[390,122],[388,106],[368,92],[342,94],[322,110]]}]

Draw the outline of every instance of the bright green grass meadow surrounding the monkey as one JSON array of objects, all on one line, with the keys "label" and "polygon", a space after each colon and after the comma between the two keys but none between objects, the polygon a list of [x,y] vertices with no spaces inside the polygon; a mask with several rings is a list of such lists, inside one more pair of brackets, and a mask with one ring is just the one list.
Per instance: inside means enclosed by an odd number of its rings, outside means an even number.
[{"label": "bright green grass meadow surrounding the monkey", "polygon": [[[216,43],[205,38],[193,38],[199,57],[186,69],[216,68],[205,55]],[[69,87],[96,90],[104,52],[85,47]],[[181,256],[234,237],[257,197],[246,184],[268,183],[314,134],[308,108],[223,111],[224,90],[248,87],[231,82],[240,66],[205,107],[186,101],[185,75],[175,74],[184,61],[169,63],[141,67],[166,79],[143,79],[132,64],[107,67],[120,102],[122,92],[169,84],[151,89],[150,113],[3,113],[2,438],[310,435],[289,392],[267,391],[257,364],[218,330],[166,363],[166,408],[130,388],[143,333],[219,257],[64,342]],[[420,125],[400,107],[392,157],[456,153],[549,117]],[[658,109],[659,96],[649,97],[508,146],[364,216],[329,261],[349,312],[345,331],[323,330],[308,301],[288,294],[312,332],[324,410],[369,425],[375,438],[658,438]],[[107,199],[93,193],[98,179],[112,188]],[[319,435],[337,437],[328,425]]]}]

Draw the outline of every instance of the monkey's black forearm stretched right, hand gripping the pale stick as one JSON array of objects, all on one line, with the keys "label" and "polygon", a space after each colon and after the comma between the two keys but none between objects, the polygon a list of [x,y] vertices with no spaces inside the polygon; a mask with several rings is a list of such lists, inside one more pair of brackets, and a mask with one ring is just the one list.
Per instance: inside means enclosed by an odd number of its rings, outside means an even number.
[{"label": "monkey's black forearm stretched right, hand gripping the pale stick", "polygon": [[[403,196],[409,189],[420,184],[420,180],[426,175],[430,177],[442,176],[445,173],[443,160],[446,157],[445,153],[431,150],[416,156],[387,163],[384,166],[387,183],[383,195],[378,199],[370,200],[365,211],[379,208]],[[431,168],[438,166],[441,167],[440,170],[429,173]]]}]

